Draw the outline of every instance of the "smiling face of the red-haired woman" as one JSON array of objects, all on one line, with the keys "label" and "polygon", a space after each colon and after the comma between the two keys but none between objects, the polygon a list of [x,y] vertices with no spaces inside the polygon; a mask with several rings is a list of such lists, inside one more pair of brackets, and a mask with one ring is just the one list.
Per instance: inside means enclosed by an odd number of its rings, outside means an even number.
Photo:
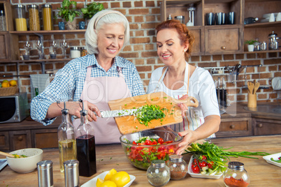
[{"label": "smiling face of the red-haired woman", "polygon": [[176,29],[163,29],[157,33],[157,54],[165,65],[171,66],[185,59],[187,49],[188,45],[181,43]]}]

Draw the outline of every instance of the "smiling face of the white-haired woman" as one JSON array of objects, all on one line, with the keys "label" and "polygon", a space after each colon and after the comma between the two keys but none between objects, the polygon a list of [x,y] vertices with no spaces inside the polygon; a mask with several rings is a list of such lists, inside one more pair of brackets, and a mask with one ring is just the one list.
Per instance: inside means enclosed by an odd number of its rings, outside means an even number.
[{"label": "smiling face of the white-haired woman", "polygon": [[124,45],[125,28],[122,23],[103,24],[98,33],[99,58],[113,59]]}]

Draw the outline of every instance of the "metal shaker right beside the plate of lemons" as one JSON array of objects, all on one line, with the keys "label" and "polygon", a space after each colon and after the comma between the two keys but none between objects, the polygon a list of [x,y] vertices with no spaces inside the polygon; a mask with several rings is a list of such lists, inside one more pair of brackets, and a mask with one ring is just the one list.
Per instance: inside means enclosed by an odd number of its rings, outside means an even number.
[{"label": "metal shaker right beside the plate of lemons", "polygon": [[79,161],[66,160],[64,162],[64,181],[66,187],[79,186]]}]

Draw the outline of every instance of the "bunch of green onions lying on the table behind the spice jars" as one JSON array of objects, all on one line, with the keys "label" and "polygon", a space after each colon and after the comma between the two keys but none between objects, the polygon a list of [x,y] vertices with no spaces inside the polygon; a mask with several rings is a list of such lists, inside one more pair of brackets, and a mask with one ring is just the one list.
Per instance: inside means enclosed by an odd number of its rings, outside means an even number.
[{"label": "bunch of green onions lying on the table behind the spice jars", "polygon": [[[231,148],[229,148],[231,149]],[[218,147],[215,144],[210,144],[209,142],[204,142],[203,144],[192,143],[191,147],[185,150],[184,154],[194,154],[196,158],[201,158],[201,156],[206,156],[208,162],[213,162],[212,170],[208,174],[221,174],[226,170],[227,160],[230,160],[232,157],[245,157],[245,158],[255,158],[252,156],[266,156],[269,155],[265,152],[249,152],[249,151],[226,151],[223,147]],[[201,172],[202,173],[202,172]],[[203,174],[206,172],[203,172]]]}]

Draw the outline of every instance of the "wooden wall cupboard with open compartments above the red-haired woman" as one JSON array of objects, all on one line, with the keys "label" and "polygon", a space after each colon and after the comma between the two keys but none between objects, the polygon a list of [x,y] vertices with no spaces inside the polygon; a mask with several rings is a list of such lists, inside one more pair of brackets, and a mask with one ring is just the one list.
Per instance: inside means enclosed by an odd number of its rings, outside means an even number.
[{"label": "wooden wall cupboard with open compartments above the red-haired woman", "polygon": [[[260,42],[268,43],[268,34],[272,31],[281,35],[281,22],[261,23],[264,14],[281,12],[280,0],[163,0],[160,6],[161,21],[167,20],[169,15],[172,18],[183,15],[187,24],[189,21],[187,8],[191,3],[196,7],[195,27],[188,27],[195,36],[196,47],[192,55],[249,53],[244,45],[245,40],[259,38]],[[206,13],[219,12],[234,12],[235,24],[207,25]],[[258,17],[259,21],[244,25],[246,17]],[[201,30],[200,36],[199,30]],[[274,52],[280,51],[281,49]]]}]

